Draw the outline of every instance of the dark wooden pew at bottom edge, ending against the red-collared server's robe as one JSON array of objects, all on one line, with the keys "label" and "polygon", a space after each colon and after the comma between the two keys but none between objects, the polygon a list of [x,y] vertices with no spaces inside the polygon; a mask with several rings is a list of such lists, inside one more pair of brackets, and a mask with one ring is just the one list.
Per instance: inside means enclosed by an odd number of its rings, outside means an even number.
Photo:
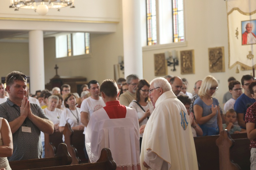
[{"label": "dark wooden pew at bottom edge, ending against the red-collared server's robe", "polygon": [[75,164],[66,166],[56,166],[48,168],[38,168],[33,170],[115,170],[116,163],[112,158],[112,154],[109,148],[103,148],[101,150],[100,158],[97,163],[87,163],[87,164]]}]

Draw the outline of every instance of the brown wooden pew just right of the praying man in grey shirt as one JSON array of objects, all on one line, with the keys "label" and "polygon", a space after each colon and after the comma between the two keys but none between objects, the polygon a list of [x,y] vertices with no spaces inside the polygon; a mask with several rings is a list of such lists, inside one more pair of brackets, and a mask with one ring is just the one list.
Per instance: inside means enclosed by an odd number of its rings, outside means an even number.
[{"label": "brown wooden pew just right of the praying man in grey shirt", "polygon": [[62,133],[54,132],[53,134],[44,134],[44,152],[45,158],[54,157],[57,153],[57,148],[62,141]]}]

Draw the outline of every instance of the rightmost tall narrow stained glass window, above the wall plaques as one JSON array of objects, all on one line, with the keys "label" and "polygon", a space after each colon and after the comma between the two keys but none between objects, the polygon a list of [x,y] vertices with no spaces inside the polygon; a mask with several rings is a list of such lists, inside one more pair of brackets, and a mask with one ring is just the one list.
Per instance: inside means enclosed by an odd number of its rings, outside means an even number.
[{"label": "rightmost tall narrow stained glass window, above the wall plaques", "polygon": [[173,42],[184,41],[183,0],[172,0],[173,9]]}]

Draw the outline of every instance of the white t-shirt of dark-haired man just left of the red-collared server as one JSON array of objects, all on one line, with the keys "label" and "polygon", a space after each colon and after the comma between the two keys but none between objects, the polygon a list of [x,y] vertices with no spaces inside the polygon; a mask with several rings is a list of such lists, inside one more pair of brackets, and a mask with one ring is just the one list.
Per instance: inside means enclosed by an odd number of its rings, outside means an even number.
[{"label": "white t-shirt of dark-haired man just left of the red-collared server", "polygon": [[[101,97],[99,100],[95,100],[91,97],[88,97],[87,99],[83,100],[81,107],[80,107],[80,113],[81,112],[88,113],[88,118],[90,120],[91,115],[95,111],[98,111],[99,109],[101,109],[102,107],[105,107],[105,106],[106,106],[106,104],[104,103],[104,101],[102,100]],[[86,127],[84,127],[84,134],[85,134],[85,129],[86,129]]]}]

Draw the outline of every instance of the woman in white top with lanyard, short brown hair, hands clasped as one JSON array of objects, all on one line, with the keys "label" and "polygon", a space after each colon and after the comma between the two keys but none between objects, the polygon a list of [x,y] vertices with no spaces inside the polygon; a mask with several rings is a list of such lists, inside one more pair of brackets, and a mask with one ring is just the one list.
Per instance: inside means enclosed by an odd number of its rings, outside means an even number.
[{"label": "woman in white top with lanyard, short brown hair, hands clasped", "polygon": [[66,95],[64,104],[66,108],[60,116],[59,131],[63,132],[66,123],[69,123],[74,131],[84,130],[84,125],[81,123],[80,108],[76,107],[76,99],[72,93]]}]

